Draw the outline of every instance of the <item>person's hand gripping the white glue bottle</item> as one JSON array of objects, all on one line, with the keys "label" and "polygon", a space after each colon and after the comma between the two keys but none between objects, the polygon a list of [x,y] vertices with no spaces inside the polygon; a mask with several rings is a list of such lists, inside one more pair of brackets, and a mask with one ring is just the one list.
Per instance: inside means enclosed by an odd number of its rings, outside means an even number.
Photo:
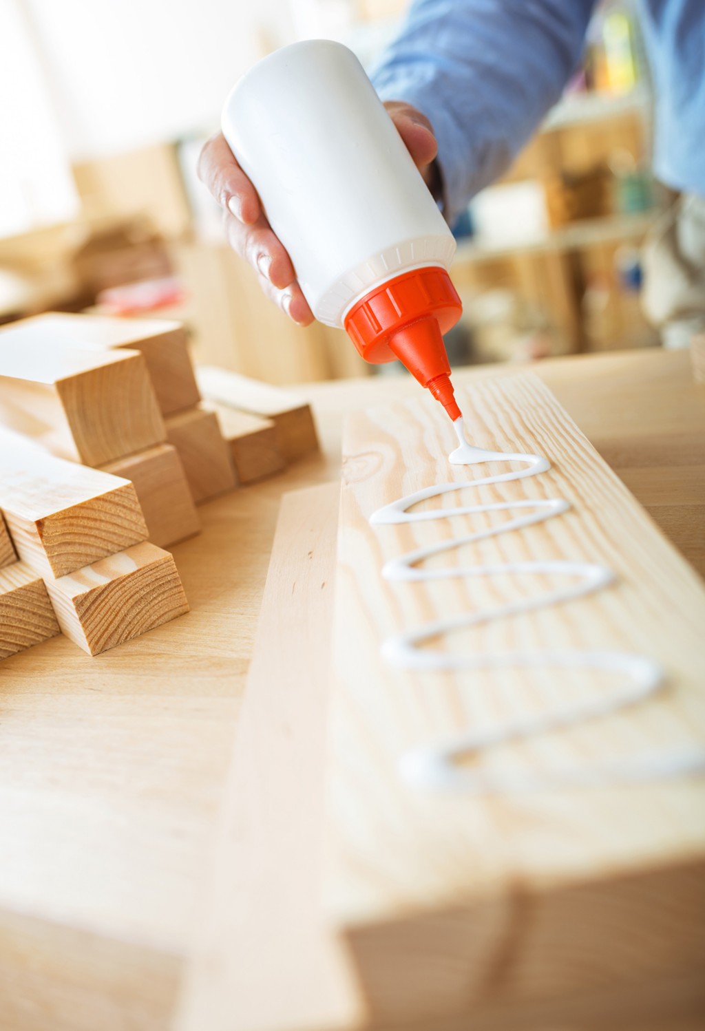
[{"label": "person's hand gripping the white glue bottle", "polygon": [[[431,123],[403,101],[384,104],[399,135],[424,176],[434,186],[436,139]],[[295,323],[309,326],[313,312],[296,281],[294,265],[267,222],[257,191],[242,171],[222,133],[211,136],[198,159],[199,178],[224,208],[228,241],[258,273],[263,291]]]}]

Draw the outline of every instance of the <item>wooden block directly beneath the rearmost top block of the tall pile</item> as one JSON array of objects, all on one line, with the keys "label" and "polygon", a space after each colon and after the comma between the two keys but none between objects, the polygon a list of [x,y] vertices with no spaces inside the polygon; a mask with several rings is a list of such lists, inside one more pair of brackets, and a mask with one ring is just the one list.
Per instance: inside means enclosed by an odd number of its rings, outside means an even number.
[{"label": "wooden block directly beneath the rearmost top block of the tall pile", "polygon": [[167,440],[178,452],[196,504],[237,487],[230,448],[214,412],[190,408],[170,415],[166,426]]}]

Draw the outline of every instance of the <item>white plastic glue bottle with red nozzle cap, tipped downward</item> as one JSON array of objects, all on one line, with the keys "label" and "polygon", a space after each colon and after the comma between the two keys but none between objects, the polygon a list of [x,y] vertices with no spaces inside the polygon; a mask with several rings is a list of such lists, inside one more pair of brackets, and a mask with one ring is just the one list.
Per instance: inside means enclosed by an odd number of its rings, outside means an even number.
[{"label": "white plastic glue bottle with red nozzle cap, tipped downward", "polygon": [[372,363],[400,359],[455,421],[442,334],[462,305],[456,241],[346,46],[284,46],[235,85],[223,134],[314,314]]}]

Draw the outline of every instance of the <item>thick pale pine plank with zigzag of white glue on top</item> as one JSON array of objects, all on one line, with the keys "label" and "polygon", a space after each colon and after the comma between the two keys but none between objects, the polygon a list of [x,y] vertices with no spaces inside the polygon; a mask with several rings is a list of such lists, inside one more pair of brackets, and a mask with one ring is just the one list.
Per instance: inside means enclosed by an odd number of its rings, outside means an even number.
[{"label": "thick pale pine plank with zigzag of white glue on top", "polygon": [[[677,775],[678,757],[686,768],[703,761],[703,587],[536,377],[480,380],[459,396],[474,443],[543,455],[551,468],[448,494],[442,506],[559,498],[570,508],[494,535],[493,525],[515,510],[371,526],[373,511],[410,492],[469,484],[507,465],[450,466],[454,428],[418,396],[349,420],[326,905],[372,1018],[390,1024],[488,1010],[507,1018],[532,999],[598,989],[616,998],[676,974],[699,977],[705,950],[705,825],[695,818],[705,784]],[[447,653],[461,664],[491,653],[498,668],[390,665],[380,652],[390,635],[565,588],[565,577],[548,572],[381,578],[387,560],[479,531],[483,539],[450,551],[443,565],[472,572],[478,564],[580,560],[608,567],[614,581],[570,603],[438,635],[426,653],[432,663]],[[643,655],[665,668],[668,690],[627,709],[615,701],[624,675],[507,660],[550,647]],[[540,722],[557,706],[598,702],[612,714],[448,760],[439,794],[400,773],[414,750],[469,727],[501,735],[508,721]],[[592,787],[570,790],[556,772],[572,767],[590,780],[601,762],[632,771],[643,763],[647,772],[648,756],[673,775],[629,785],[611,780],[608,767]],[[458,771],[474,774],[479,794],[463,792]],[[486,778],[494,794],[481,792]],[[532,779],[536,790],[516,793]],[[448,783],[457,791],[444,794]]]}]

